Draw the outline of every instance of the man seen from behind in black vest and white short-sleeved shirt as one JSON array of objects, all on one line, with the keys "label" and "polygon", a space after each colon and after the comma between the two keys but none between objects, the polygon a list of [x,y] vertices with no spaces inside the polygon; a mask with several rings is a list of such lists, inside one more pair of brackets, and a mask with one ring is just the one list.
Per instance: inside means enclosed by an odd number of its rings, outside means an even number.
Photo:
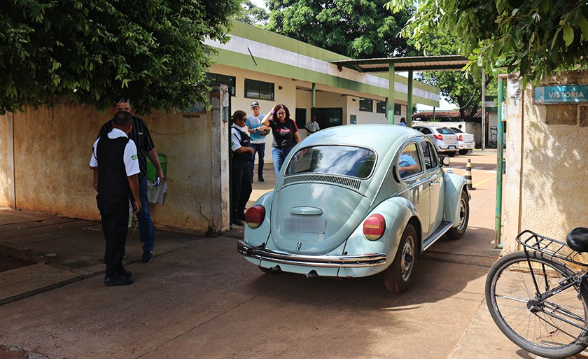
[{"label": "man seen from behind in black vest and white short-sleeved shirt", "polygon": [[[118,111],[113,129],[94,142],[90,169],[94,170],[94,190],[106,239],[104,263],[105,286],[127,286],[133,283],[131,272],[123,267],[123,253],[127,244],[129,224],[129,193],[139,198],[137,174],[137,146],[129,139],[133,127],[132,115]],[[141,202],[134,201],[134,213],[141,210]]]}]

